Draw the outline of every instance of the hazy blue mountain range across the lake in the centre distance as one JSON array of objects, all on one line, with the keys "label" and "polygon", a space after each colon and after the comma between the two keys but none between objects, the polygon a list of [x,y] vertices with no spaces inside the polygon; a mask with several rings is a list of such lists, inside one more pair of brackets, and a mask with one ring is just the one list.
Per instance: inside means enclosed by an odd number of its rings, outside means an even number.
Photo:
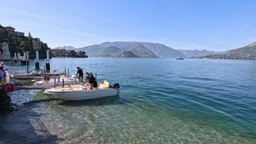
[{"label": "hazy blue mountain range across the lake in the centre distance", "polygon": [[[147,43],[138,41],[114,41],[105,42],[102,44],[95,44],[91,46],[85,46],[81,48],[75,48],[73,46],[55,47],[54,49],[66,49],[66,50],[81,50],[85,51],[86,55],[91,57],[121,57],[122,52],[129,52],[129,56],[132,57],[144,57],[144,58],[191,58],[200,57],[210,54],[225,54],[229,51],[215,52],[207,50],[175,50],[172,47],[168,47],[158,43]],[[124,56],[124,55],[123,55]],[[127,55],[126,55],[127,56]]]}]

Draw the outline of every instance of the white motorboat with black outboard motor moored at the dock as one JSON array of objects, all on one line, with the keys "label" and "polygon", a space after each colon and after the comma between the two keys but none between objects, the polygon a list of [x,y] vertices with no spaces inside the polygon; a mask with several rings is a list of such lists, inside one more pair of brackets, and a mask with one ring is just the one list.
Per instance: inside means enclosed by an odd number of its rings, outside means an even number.
[{"label": "white motorboat with black outboard motor moored at the dock", "polygon": [[86,85],[69,85],[49,88],[46,89],[44,93],[53,95],[56,99],[85,100],[117,95],[119,88],[118,83],[115,83],[114,86],[111,87],[109,82],[104,81],[103,83],[98,83],[97,87],[94,87],[91,90],[87,89]]}]

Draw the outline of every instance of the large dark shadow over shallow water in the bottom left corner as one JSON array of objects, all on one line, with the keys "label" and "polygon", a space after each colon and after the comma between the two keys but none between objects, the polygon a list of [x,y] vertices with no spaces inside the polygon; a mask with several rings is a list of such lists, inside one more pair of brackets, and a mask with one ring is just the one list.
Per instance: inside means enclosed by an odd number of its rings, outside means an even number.
[{"label": "large dark shadow over shallow water in the bottom left corner", "polygon": [[43,114],[33,110],[31,105],[34,103],[27,103],[13,111],[10,101],[7,93],[0,92],[0,143],[55,143],[63,140],[50,134],[40,119]]}]

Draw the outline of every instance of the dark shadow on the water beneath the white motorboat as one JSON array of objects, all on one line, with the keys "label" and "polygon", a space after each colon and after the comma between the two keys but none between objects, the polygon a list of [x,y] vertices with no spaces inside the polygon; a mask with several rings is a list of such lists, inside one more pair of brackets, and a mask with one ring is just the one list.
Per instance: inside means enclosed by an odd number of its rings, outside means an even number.
[{"label": "dark shadow on the water beneath the white motorboat", "polygon": [[97,98],[97,99],[62,101],[58,105],[78,107],[78,106],[121,105],[126,103],[132,103],[132,101],[122,99],[118,95],[114,95],[110,97],[103,97],[103,98]]}]

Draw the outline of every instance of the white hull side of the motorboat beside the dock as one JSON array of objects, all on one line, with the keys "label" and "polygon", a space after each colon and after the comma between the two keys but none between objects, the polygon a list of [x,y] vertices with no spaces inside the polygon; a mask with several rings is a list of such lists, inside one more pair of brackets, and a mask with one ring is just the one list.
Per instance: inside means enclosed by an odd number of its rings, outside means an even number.
[{"label": "white hull side of the motorboat beside the dock", "polygon": [[93,90],[72,90],[56,91],[56,88],[46,89],[44,93],[53,95],[56,99],[62,100],[85,100],[101,97],[109,97],[118,94],[118,90],[114,88],[93,89]]}]

